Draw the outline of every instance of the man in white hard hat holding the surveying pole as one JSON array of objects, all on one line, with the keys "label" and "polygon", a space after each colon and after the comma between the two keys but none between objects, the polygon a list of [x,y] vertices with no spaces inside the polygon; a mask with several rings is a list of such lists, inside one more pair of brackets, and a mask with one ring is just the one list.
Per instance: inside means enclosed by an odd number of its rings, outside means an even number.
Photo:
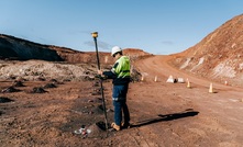
[{"label": "man in white hard hat holding the surveying pole", "polygon": [[[98,74],[106,76],[108,79],[113,79],[112,101],[114,106],[114,123],[111,127],[120,131],[121,127],[130,127],[130,113],[126,105],[126,93],[130,82],[130,59],[122,55],[122,49],[114,46],[111,56],[117,59],[110,71],[98,70]],[[122,123],[122,112],[124,122]]]}]

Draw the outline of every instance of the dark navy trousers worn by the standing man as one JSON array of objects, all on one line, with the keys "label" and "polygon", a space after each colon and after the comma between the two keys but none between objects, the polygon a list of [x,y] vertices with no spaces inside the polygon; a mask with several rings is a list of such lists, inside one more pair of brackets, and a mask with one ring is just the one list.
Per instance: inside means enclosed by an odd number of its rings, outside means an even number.
[{"label": "dark navy trousers worn by the standing man", "polygon": [[124,123],[130,122],[130,112],[126,105],[126,93],[129,84],[125,86],[113,86],[113,106],[114,106],[114,123],[121,125],[122,112],[124,117]]}]

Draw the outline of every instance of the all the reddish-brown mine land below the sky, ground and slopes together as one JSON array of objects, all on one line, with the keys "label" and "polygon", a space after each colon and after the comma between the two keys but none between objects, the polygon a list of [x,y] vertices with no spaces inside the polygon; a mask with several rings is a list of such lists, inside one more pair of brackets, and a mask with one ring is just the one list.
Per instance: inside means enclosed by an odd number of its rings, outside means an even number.
[{"label": "all the reddish-brown mine land below the sky, ground and slopes together", "polygon": [[[132,126],[120,132],[103,129],[103,111],[113,122],[112,83],[103,81],[104,110],[95,53],[0,34],[0,146],[242,147],[242,20],[175,55],[124,49]],[[100,61],[109,69],[114,60],[100,53]]]}]

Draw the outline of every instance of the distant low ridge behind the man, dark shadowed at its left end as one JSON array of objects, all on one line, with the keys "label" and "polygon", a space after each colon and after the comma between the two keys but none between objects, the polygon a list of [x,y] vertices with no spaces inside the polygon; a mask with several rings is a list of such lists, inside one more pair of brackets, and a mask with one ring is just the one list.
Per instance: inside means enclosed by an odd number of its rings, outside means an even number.
[{"label": "distant low ridge behind the man, dark shadowed at its left end", "polygon": [[[41,59],[48,61],[67,61],[67,63],[96,63],[95,52],[78,52],[67,47],[54,45],[43,45],[14,36],[0,34],[0,58],[2,59]],[[151,55],[137,48],[126,48],[124,54],[131,58]],[[114,60],[110,53],[99,53],[100,63],[112,64]]]}]

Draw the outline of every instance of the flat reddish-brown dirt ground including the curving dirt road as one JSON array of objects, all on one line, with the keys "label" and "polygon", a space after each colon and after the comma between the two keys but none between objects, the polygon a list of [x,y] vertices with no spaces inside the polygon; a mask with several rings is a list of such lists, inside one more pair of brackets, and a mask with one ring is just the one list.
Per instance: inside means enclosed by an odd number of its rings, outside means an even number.
[{"label": "flat reddish-brown dirt ground including the curving dirt road", "polygon": [[[151,56],[134,63],[144,81],[132,82],[128,104],[132,126],[102,131],[104,117],[98,79],[77,81],[23,80],[8,92],[14,79],[0,83],[0,144],[9,146],[219,146],[243,145],[241,88],[189,76],[168,63],[172,56]],[[169,75],[186,83],[165,82]],[[154,81],[154,77],[158,81]],[[33,93],[33,88],[44,93]],[[103,81],[108,122],[112,122],[111,81]],[[8,99],[12,100],[7,102]],[[4,103],[3,103],[4,102]],[[100,127],[99,127],[100,126]],[[75,134],[85,127],[87,134]]]}]

